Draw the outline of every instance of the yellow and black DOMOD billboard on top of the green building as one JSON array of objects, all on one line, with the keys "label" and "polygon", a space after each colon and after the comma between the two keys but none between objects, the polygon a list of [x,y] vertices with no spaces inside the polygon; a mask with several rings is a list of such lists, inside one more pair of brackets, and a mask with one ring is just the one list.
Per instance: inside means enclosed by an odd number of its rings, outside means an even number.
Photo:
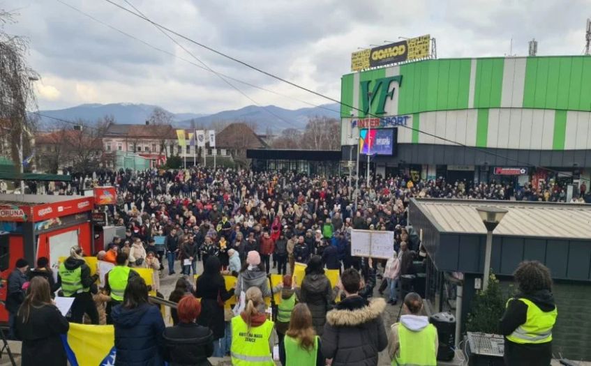
[{"label": "yellow and black DOMOD billboard on top of the green building", "polygon": [[401,42],[389,43],[351,54],[351,70],[359,71],[377,68],[403,61],[424,59],[430,54],[431,36],[428,34],[409,38]]}]

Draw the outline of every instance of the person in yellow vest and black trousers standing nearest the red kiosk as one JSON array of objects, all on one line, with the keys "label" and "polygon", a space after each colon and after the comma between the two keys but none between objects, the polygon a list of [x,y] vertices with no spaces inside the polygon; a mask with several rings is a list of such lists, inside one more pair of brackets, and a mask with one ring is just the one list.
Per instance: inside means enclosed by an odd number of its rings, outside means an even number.
[{"label": "person in yellow vest and black trousers standing nearest the red kiosk", "polygon": [[82,323],[84,313],[88,314],[93,324],[98,324],[98,312],[90,293],[91,285],[98,280],[99,273],[90,275],[90,268],[84,261],[81,247],[71,247],[70,257],[59,265],[57,283],[63,296],[74,298],[70,308],[70,321]]}]

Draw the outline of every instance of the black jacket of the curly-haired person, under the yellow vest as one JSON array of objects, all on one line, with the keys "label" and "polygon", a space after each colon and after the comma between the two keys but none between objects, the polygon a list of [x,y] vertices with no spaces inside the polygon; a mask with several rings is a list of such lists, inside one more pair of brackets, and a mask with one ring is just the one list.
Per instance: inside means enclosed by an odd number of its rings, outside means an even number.
[{"label": "black jacket of the curly-haired person, under the yellow vest", "polygon": [[[551,312],[556,308],[554,297],[548,290],[538,291],[531,295],[518,295],[509,300],[507,309],[499,321],[500,333],[510,335],[527,321],[528,305],[518,298],[527,298],[543,312]],[[505,365],[550,365],[552,358],[552,342],[539,344],[518,344],[505,338],[504,361]]]}]

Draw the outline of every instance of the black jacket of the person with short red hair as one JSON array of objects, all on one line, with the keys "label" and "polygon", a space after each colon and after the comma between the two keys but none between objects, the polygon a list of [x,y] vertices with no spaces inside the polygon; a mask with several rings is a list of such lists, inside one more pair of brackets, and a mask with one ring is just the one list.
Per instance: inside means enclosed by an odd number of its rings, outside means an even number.
[{"label": "black jacket of the person with short red hair", "polygon": [[209,328],[179,323],[164,330],[164,360],[170,366],[210,366],[214,337]]}]

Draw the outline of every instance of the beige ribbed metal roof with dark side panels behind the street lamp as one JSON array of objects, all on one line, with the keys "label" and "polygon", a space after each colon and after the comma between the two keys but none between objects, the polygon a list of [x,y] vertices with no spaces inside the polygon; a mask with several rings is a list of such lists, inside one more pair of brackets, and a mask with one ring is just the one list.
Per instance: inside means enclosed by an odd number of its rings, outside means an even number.
[{"label": "beige ribbed metal roof with dark side panels behind the street lamp", "polygon": [[493,232],[491,268],[511,275],[537,260],[555,280],[591,282],[591,205],[529,201],[411,199],[408,219],[437,270],[481,274],[486,229],[476,208],[504,208]]}]

